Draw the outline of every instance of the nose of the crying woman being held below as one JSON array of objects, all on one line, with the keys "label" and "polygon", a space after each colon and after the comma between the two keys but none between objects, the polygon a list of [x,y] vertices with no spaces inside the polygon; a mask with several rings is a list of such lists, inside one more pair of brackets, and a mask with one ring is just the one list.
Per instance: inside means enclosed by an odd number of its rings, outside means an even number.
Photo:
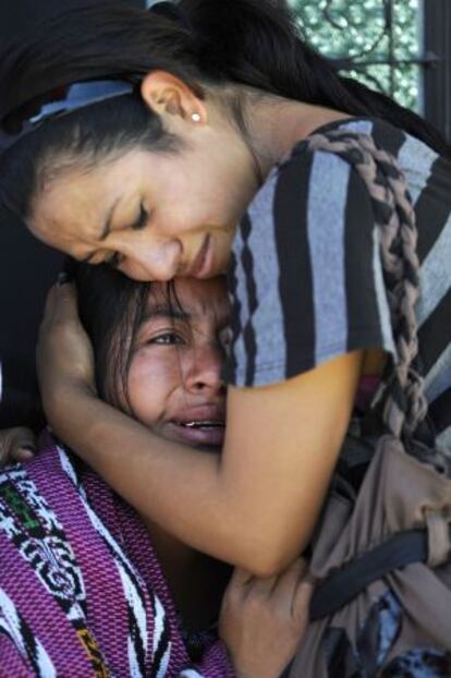
[{"label": "nose of the crying woman being held below", "polygon": [[194,349],[185,374],[185,388],[193,394],[226,395],[226,385],[221,378],[222,356],[217,343]]}]

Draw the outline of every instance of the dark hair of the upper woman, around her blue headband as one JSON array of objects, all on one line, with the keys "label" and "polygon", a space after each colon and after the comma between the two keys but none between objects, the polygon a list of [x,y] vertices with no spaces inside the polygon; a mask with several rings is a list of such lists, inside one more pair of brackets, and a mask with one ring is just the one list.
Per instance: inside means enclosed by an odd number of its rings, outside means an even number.
[{"label": "dark hair of the upper woman, around her blue headband", "polygon": [[[205,87],[241,85],[352,116],[386,119],[442,155],[441,134],[415,113],[356,81],[341,77],[333,63],[298,35],[277,0],[180,0],[153,11],[99,0],[60,10],[34,26],[33,35],[0,55],[0,120],[36,97],[76,81],[129,80],[136,85],[162,69],[185,81],[198,96]],[[233,89],[228,87],[228,90]],[[240,96],[229,105],[240,118]],[[222,90],[226,92],[226,90]],[[125,95],[42,125],[3,154],[1,201],[22,217],[49,161],[95,162],[131,146],[173,149],[158,116],[138,94]]]}]

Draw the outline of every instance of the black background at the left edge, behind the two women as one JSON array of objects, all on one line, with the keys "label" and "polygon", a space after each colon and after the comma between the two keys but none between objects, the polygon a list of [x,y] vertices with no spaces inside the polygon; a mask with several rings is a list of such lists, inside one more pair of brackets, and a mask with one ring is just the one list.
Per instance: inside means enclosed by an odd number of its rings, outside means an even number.
[{"label": "black background at the left edge, behind the two women", "polygon": [[[36,20],[61,2],[69,5],[76,1],[0,0],[0,40],[29,31]],[[144,0],[123,1],[145,7]],[[37,420],[37,330],[46,292],[56,280],[61,262],[61,254],[34,240],[10,215],[0,214],[0,428]]]}]

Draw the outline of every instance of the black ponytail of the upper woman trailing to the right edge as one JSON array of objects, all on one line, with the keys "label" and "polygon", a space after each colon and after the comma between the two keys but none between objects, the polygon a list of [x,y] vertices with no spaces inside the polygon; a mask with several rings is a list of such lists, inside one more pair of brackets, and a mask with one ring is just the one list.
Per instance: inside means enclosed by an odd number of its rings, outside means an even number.
[{"label": "black ponytail of the upper woman trailing to the right edge", "polygon": [[340,76],[333,61],[301,38],[284,2],[181,0],[179,8],[197,35],[200,68],[214,78],[350,116],[381,118],[451,156],[451,147],[434,125],[390,97]]}]

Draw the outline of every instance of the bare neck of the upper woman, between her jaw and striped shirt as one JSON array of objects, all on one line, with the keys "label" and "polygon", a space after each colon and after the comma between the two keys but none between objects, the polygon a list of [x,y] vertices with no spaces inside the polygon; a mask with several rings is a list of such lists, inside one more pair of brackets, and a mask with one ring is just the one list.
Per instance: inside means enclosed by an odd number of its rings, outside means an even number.
[{"label": "bare neck of the upper woman, between her jaw and striped shirt", "polygon": [[350,118],[342,111],[268,97],[265,101],[248,104],[248,142],[257,158],[261,175],[290,154],[296,143],[309,136],[318,128]]}]

